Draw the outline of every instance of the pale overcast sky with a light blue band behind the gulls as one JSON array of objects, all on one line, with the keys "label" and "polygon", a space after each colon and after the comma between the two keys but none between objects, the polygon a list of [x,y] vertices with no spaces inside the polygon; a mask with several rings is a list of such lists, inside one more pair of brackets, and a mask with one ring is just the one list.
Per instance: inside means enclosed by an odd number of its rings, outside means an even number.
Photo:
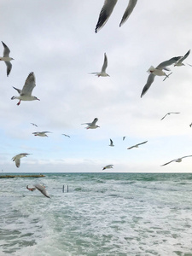
[{"label": "pale overcast sky with a light blue band behind the gulls", "polygon": [[[102,172],[109,164],[113,171],[108,172],[192,171],[192,158],[161,166],[192,154],[192,67],[170,67],[170,78],[156,77],[140,97],[151,65],[191,49],[192,1],[138,0],[119,28],[128,3],[119,0],[95,33],[103,3],[1,1],[0,40],[15,60],[9,77],[0,61],[0,171]],[[89,73],[101,71],[105,52],[110,77],[97,78]],[[192,64],[192,53],[184,63]],[[17,106],[12,86],[22,89],[31,72],[32,95],[40,101]],[[179,114],[160,120],[168,112]],[[95,118],[100,128],[81,125]],[[52,133],[34,137],[34,131]],[[17,168],[11,159],[23,152],[31,155]]]}]

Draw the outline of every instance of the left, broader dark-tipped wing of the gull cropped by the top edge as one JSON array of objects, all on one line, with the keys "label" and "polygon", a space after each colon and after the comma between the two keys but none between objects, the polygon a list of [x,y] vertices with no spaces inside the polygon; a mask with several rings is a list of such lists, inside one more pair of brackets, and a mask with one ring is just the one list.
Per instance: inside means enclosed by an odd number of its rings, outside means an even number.
[{"label": "left, broader dark-tipped wing of the gull cropped by the top edge", "polygon": [[105,0],[99,15],[99,20],[97,21],[97,24],[96,24],[96,32],[98,32],[102,28],[102,26],[106,24],[106,22],[108,21],[108,18],[113,12],[113,8],[117,3],[117,1],[118,0]]}]

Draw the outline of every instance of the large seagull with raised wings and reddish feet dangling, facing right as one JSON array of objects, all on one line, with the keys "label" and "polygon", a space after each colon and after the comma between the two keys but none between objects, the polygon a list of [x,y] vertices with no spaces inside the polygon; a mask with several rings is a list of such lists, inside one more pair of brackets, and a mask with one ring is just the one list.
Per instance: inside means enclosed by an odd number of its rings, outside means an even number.
[{"label": "large seagull with raised wings and reddish feet dangling, facing right", "polygon": [[34,101],[34,100],[40,101],[36,96],[32,96],[32,90],[35,87],[35,85],[36,85],[35,84],[35,75],[34,75],[33,72],[29,73],[29,75],[26,79],[26,83],[24,84],[22,90],[17,89],[17,88],[14,87],[14,89],[19,92],[20,96],[13,96],[11,98],[11,100],[14,100],[14,99],[20,100],[17,103],[18,106],[20,105],[21,101]]}]

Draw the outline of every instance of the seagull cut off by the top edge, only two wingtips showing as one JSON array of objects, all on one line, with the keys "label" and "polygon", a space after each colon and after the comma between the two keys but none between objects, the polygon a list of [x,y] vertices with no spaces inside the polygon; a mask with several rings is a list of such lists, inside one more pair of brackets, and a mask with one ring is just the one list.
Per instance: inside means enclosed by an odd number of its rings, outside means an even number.
[{"label": "seagull cut off by the top edge, only two wingtips showing", "polygon": [[[96,24],[95,32],[98,32],[102,28],[102,26],[106,24],[106,22],[108,21],[108,18],[113,12],[113,8],[117,3],[117,1],[118,0],[105,0],[99,15],[99,20],[97,21],[97,24]],[[125,9],[125,13],[123,15],[122,20],[120,21],[119,26],[123,25],[125,21],[129,18],[136,4],[137,4],[137,0],[129,0],[128,6]]]}]

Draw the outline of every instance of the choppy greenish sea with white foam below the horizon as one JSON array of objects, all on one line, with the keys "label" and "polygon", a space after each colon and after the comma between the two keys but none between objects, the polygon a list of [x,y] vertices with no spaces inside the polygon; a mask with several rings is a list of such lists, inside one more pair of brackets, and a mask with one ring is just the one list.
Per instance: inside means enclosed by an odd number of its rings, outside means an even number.
[{"label": "choppy greenish sea with white foam below the horizon", "polygon": [[192,174],[44,174],[0,178],[0,256],[192,256]]}]

